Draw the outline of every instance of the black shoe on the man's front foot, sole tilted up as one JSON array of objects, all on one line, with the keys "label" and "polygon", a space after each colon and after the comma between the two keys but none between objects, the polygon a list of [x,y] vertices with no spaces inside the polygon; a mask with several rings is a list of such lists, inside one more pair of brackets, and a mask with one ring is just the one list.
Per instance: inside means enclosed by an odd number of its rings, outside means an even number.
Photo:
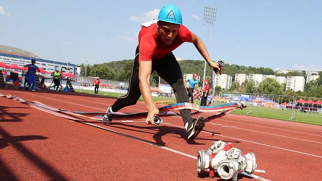
[{"label": "black shoe on the man's front foot, sole tilted up", "polygon": [[192,119],[186,123],[187,140],[194,140],[197,137],[202,131],[205,121],[206,120],[202,116],[199,116],[197,119]]}]

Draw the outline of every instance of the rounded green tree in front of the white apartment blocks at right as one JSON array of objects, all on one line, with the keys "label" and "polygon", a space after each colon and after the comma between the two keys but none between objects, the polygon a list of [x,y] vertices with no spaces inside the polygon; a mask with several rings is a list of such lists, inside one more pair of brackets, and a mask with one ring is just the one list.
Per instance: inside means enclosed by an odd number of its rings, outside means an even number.
[{"label": "rounded green tree in front of the white apartment blocks at right", "polygon": [[260,94],[283,95],[283,85],[273,78],[266,78],[258,85]]}]

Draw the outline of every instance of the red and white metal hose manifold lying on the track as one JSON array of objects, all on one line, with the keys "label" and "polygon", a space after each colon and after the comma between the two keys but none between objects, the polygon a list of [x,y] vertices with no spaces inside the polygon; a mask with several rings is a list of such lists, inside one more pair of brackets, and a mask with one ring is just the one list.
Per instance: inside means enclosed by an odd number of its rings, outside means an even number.
[{"label": "red and white metal hose manifold lying on the track", "polygon": [[214,170],[223,179],[237,180],[237,174],[254,173],[257,168],[255,154],[249,152],[245,155],[231,143],[221,140],[214,141],[206,151],[199,150],[197,157],[198,175],[209,169],[209,176],[214,177]]}]

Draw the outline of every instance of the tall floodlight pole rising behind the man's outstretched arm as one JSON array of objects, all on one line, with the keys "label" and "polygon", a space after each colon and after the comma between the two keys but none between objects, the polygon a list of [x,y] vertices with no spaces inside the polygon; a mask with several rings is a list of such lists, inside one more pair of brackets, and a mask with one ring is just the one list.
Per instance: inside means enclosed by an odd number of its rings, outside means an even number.
[{"label": "tall floodlight pole rising behind the man's outstretched arm", "polygon": [[[208,51],[208,43],[209,43],[209,30],[210,30],[210,26],[215,26],[216,15],[217,15],[216,8],[204,6],[203,25],[208,25],[208,36],[207,36],[207,44],[206,44],[207,51]],[[205,72],[206,72],[205,70],[206,70],[206,61],[204,61],[204,67],[203,67],[203,80],[205,79]],[[204,81],[202,82],[202,87],[204,87]]]}]

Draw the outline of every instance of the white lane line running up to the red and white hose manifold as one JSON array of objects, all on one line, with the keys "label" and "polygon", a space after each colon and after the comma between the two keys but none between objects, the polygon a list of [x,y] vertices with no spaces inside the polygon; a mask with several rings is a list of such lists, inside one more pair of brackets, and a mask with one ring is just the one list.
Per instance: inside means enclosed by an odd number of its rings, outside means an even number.
[{"label": "white lane line running up to the red and white hose manifold", "polygon": [[[104,130],[107,130],[109,132],[116,133],[116,134],[122,135],[124,137],[130,138],[130,139],[133,139],[133,140],[136,140],[136,141],[148,144],[148,145],[152,145],[152,146],[155,146],[155,147],[158,147],[158,148],[162,148],[162,149],[165,149],[165,150],[168,150],[168,151],[171,151],[171,152],[174,152],[174,153],[177,153],[177,154],[180,154],[180,155],[183,155],[183,156],[187,156],[187,157],[190,157],[192,159],[197,160],[197,156],[193,156],[193,155],[188,154],[188,153],[183,153],[183,152],[178,151],[178,150],[174,150],[174,149],[171,149],[171,148],[168,148],[168,147],[165,147],[165,146],[161,146],[161,145],[155,144],[153,142],[149,142],[147,140],[136,138],[136,137],[133,137],[131,135],[124,134],[124,133],[121,133],[121,132],[118,132],[118,131],[115,131],[115,130],[112,130],[112,129],[108,129],[108,128],[105,128],[105,127],[101,127],[101,126],[98,126],[98,125],[95,125],[95,124],[84,123],[84,122],[80,122],[80,123],[87,124],[87,125],[90,125],[90,126],[94,126],[94,127],[100,128],[100,129],[104,129]],[[265,173],[265,171],[264,171],[264,173]],[[252,178],[259,179],[259,180],[270,181],[269,179],[266,179],[266,178],[263,178],[263,177],[260,177],[260,176],[254,175],[254,174],[247,174],[246,172],[243,172],[242,174],[244,174],[246,176],[249,176],[249,177],[252,177]]]}]

